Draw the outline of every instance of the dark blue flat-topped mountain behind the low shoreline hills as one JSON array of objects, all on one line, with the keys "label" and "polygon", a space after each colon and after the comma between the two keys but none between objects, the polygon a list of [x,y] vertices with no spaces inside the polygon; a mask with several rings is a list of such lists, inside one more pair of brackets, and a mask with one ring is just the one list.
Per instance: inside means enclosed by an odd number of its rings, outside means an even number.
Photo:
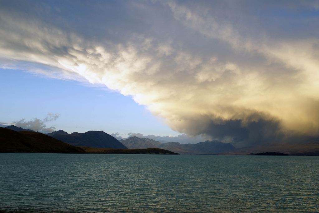
[{"label": "dark blue flat-topped mountain behind the low shoreline hills", "polygon": [[127,149],[120,141],[104,131],[87,131],[85,133],[59,130],[47,134],[72,146],[88,146],[93,148]]}]

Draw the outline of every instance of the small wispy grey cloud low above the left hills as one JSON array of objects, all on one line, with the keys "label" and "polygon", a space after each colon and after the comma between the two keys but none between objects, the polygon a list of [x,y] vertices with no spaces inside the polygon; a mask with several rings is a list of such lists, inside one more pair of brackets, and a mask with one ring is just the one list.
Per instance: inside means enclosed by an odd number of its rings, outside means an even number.
[{"label": "small wispy grey cloud low above the left hills", "polygon": [[22,127],[23,129],[31,129],[33,131],[40,131],[43,133],[50,133],[56,130],[54,126],[47,127],[45,123],[49,121],[55,121],[60,114],[48,113],[47,117],[44,119],[34,118],[33,120],[26,121],[26,119],[22,118],[19,121],[15,121],[14,125],[17,127]]}]

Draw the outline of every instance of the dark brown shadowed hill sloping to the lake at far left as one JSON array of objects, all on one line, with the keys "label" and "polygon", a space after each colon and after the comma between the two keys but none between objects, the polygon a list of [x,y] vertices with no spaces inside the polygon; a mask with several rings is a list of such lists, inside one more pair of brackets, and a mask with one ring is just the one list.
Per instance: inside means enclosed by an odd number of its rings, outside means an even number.
[{"label": "dark brown shadowed hill sloping to the lake at far left", "polygon": [[0,127],[0,152],[7,153],[85,153],[74,147],[54,139],[48,135],[34,131],[14,131]]}]

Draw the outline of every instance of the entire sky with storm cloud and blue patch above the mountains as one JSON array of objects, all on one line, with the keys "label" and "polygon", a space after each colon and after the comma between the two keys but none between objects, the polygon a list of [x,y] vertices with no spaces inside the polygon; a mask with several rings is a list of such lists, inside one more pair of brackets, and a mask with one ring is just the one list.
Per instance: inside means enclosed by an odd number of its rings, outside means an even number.
[{"label": "entire sky with storm cloud and blue patch above the mountains", "polygon": [[0,122],[303,142],[318,58],[319,1],[0,1]]}]

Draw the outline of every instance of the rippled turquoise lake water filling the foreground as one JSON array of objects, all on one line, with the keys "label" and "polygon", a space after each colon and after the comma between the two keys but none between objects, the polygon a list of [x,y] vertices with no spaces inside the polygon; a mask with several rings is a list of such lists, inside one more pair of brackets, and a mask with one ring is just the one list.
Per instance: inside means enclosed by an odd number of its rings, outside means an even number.
[{"label": "rippled turquoise lake water filling the foreground", "polygon": [[0,212],[319,212],[319,157],[0,153]]}]

